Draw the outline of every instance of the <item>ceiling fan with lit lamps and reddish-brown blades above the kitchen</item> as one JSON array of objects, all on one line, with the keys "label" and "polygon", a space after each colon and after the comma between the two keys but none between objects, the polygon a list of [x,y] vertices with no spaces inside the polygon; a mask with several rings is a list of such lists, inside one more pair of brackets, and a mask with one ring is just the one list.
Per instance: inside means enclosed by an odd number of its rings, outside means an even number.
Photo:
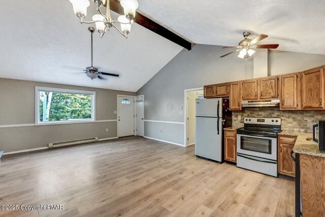
[{"label": "ceiling fan with lit lamps and reddish-brown blades above the kitchen", "polygon": [[243,33],[244,38],[242,41],[239,42],[238,46],[227,46],[227,47],[223,47],[223,48],[237,48],[236,50],[224,54],[220,57],[224,57],[224,56],[228,56],[229,54],[235,53],[239,51],[239,55],[238,57],[240,58],[248,58],[251,55],[253,55],[253,53],[255,52],[253,49],[256,48],[269,48],[269,49],[276,49],[277,47],[279,47],[278,44],[263,44],[263,45],[256,45],[257,42],[267,38],[267,35],[261,34],[258,35],[256,38],[254,39],[248,39],[247,37],[250,35],[250,32],[244,32]]}]

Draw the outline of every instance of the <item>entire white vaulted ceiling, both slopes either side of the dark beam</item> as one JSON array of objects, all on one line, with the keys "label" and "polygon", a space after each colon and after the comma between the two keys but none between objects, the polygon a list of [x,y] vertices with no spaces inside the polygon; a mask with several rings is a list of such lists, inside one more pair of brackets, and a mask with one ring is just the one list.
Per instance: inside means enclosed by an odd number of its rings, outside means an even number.
[{"label": "entire white vaulted ceiling, both slopes either side of the dark beam", "polygon": [[[197,44],[235,46],[242,32],[269,37],[278,50],[325,54],[323,0],[138,0],[138,11]],[[95,13],[90,0],[89,20]],[[116,19],[117,14],[112,12]],[[0,7],[0,77],[137,91],[183,48],[134,23],[128,39],[114,29],[94,34],[94,66],[119,73],[90,80],[88,24],[68,0],[3,1]],[[190,52],[190,51],[189,51]]]}]

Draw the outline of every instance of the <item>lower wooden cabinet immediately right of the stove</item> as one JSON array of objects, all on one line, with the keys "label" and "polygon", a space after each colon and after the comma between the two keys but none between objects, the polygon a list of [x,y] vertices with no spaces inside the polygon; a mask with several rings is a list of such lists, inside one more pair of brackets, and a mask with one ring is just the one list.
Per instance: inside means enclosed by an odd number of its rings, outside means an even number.
[{"label": "lower wooden cabinet immediately right of the stove", "polygon": [[[296,176],[295,162],[291,160],[290,154],[295,146],[297,137],[278,137],[278,173],[288,176]],[[295,154],[293,154],[295,157]]]}]

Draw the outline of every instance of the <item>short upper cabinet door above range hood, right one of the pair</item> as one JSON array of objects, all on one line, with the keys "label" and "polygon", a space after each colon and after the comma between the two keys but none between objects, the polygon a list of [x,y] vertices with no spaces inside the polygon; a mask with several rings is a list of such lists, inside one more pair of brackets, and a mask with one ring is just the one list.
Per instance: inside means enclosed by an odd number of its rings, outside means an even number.
[{"label": "short upper cabinet door above range hood, right one of the pair", "polygon": [[259,99],[277,99],[278,76],[259,79]]}]

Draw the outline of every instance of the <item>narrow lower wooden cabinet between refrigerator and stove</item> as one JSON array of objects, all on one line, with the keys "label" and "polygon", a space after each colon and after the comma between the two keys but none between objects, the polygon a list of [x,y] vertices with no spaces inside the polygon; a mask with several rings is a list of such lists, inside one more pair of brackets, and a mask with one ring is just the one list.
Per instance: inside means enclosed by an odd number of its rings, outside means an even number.
[{"label": "narrow lower wooden cabinet between refrigerator and stove", "polygon": [[236,137],[236,131],[224,130],[224,160],[234,163],[237,161]]}]

